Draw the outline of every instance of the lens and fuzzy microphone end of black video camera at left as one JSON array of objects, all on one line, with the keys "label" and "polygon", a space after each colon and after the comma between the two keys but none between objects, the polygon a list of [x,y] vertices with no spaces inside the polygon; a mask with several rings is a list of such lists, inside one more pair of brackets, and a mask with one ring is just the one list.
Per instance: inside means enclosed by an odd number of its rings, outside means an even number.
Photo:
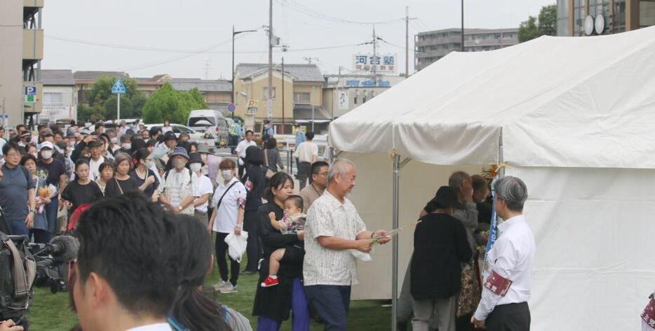
[{"label": "lens and fuzzy microphone end of black video camera at left", "polygon": [[67,262],[74,260],[79,251],[77,239],[71,236],[58,236],[49,244],[29,244],[29,251],[36,261],[34,285],[50,287],[51,293],[66,292],[68,281]]}]

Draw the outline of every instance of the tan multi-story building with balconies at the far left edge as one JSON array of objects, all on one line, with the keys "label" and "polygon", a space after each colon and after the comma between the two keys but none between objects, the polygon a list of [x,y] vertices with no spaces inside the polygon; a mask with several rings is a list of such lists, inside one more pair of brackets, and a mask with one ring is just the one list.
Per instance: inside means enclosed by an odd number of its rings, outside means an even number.
[{"label": "tan multi-story building with balconies at the far left edge", "polygon": [[0,119],[28,122],[41,113],[43,85],[43,0],[2,1],[0,10]]}]

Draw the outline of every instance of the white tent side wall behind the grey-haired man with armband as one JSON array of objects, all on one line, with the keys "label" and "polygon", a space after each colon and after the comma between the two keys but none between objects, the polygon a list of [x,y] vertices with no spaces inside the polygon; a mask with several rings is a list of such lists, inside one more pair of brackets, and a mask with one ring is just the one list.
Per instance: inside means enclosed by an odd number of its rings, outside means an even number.
[{"label": "white tent side wall behind the grey-haired man with armband", "polygon": [[532,329],[639,330],[655,284],[655,170],[508,167],[536,239]]}]

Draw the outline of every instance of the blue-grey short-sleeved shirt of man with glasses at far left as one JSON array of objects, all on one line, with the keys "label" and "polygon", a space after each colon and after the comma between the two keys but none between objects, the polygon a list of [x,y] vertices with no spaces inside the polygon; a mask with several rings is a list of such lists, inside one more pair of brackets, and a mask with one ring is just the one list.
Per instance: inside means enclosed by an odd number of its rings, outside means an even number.
[{"label": "blue-grey short-sleeved shirt of man with glasses at far left", "polygon": [[27,218],[27,190],[34,188],[34,178],[24,167],[18,165],[9,169],[2,166],[0,181],[0,206],[7,220],[24,220]]}]

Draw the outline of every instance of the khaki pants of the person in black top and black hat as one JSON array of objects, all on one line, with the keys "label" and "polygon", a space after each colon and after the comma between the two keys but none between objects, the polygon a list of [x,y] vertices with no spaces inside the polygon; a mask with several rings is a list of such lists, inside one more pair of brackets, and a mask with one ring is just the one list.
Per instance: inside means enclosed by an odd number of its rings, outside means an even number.
[{"label": "khaki pants of the person in black top and black hat", "polygon": [[428,331],[431,326],[439,331],[455,331],[455,312],[457,297],[447,299],[433,298],[426,300],[412,299],[414,318],[412,330]]}]

